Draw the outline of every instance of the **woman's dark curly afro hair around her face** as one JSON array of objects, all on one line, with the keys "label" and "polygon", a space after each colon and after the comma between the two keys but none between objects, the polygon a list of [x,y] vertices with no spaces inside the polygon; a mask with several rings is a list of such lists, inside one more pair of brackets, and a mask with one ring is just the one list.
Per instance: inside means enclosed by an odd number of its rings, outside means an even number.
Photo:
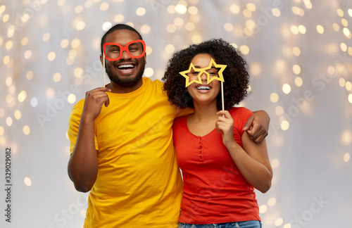
[{"label": "woman's dark curly afro hair around her face", "polygon": [[[215,63],[227,65],[222,72],[224,76],[224,104],[229,110],[247,96],[249,74],[247,64],[237,50],[222,39],[210,39],[201,44],[192,44],[187,49],[174,53],[162,80],[163,90],[168,94],[168,100],[179,108],[194,108],[193,100],[185,87],[185,79],[179,72],[187,70],[191,60],[199,53],[208,53]],[[217,100],[218,110],[222,109],[221,93]]]}]

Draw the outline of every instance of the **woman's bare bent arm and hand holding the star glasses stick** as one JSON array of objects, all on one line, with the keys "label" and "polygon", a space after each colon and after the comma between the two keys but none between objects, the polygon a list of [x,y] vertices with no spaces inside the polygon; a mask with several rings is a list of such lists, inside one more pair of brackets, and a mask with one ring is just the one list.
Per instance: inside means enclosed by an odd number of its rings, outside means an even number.
[{"label": "woman's bare bent arm and hand holding the star glasses stick", "polygon": [[[250,139],[249,134],[244,132],[241,137],[242,146],[234,141],[234,120],[230,113],[219,111],[219,119],[216,123],[218,132],[222,132],[222,143],[239,168],[241,175],[251,186],[265,193],[270,189],[272,180],[272,168],[268,157],[268,151],[265,139],[260,143]],[[222,117],[224,115],[224,117]]]}]

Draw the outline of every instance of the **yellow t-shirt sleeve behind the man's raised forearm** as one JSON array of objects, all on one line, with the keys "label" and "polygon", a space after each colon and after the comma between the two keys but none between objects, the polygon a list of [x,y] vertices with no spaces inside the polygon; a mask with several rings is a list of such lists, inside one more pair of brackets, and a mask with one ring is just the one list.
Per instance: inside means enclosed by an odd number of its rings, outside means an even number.
[{"label": "yellow t-shirt sleeve behind the man's raised forearm", "polygon": [[[73,106],[73,110],[68,120],[68,139],[70,139],[70,155],[73,153],[73,149],[75,148],[75,145],[76,145],[78,129],[80,127],[81,115],[82,115],[82,108],[79,106],[79,103],[77,103],[75,106]],[[98,146],[98,141],[96,140],[96,134],[94,134],[94,144],[95,144],[95,149],[98,150],[99,146]]]}]

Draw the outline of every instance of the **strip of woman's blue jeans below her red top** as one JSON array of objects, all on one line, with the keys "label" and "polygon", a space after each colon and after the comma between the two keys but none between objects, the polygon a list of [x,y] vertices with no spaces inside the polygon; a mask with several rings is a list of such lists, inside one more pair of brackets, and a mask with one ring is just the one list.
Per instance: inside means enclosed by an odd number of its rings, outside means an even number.
[{"label": "strip of woman's blue jeans below her red top", "polygon": [[261,228],[259,221],[251,220],[244,222],[225,222],[217,224],[188,224],[179,222],[178,228]]}]

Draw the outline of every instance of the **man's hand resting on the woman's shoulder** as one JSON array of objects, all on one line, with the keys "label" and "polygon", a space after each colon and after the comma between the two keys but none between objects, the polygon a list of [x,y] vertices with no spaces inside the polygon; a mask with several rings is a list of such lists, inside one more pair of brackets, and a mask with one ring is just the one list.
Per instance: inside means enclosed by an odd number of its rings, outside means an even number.
[{"label": "man's hand resting on the woman's shoulder", "polygon": [[270,117],[264,110],[258,110],[253,113],[244,125],[243,130],[247,132],[250,139],[260,143],[268,135]]}]

